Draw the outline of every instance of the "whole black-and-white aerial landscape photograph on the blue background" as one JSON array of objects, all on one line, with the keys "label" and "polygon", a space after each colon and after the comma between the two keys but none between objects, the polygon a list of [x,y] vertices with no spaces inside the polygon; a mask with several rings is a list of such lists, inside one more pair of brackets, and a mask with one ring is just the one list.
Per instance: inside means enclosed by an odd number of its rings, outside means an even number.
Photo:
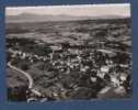
[{"label": "whole black-and-white aerial landscape photograph on the blue background", "polygon": [[7,100],[128,99],[129,3],[8,7]]}]

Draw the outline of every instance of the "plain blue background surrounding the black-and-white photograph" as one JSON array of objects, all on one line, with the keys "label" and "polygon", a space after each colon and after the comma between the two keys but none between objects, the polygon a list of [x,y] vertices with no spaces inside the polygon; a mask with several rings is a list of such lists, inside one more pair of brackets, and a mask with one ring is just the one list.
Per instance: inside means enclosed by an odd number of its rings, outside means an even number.
[{"label": "plain blue background surrounding the black-and-white photograph", "polygon": [[[97,3],[130,3],[131,11],[131,52],[133,52],[133,98],[118,100],[92,100],[92,101],[48,101],[48,102],[8,102],[5,82],[5,8],[7,7],[35,7],[35,6],[62,6],[62,4],[97,4]],[[1,0],[0,1],[0,108],[1,110],[130,110],[138,102],[138,0]]]}]

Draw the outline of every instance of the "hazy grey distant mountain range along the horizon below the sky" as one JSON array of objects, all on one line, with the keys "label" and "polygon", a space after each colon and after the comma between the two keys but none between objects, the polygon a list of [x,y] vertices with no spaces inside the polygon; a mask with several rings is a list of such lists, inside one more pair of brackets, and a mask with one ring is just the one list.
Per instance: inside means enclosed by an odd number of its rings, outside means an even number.
[{"label": "hazy grey distant mountain range along the horizon below the sky", "polygon": [[32,13],[22,13],[19,15],[8,15],[7,22],[45,22],[45,21],[74,21],[74,20],[96,20],[96,19],[124,19],[125,16],[119,15],[104,15],[104,16],[73,16],[73,15],[39,15]]}]

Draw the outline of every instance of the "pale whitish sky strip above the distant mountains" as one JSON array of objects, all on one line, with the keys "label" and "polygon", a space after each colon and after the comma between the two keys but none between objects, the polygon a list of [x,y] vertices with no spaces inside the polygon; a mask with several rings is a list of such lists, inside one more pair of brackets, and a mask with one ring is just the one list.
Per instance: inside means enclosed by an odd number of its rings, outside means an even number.
[{"label": "pale whitish sky strip above the distant mountains", "polygon": [[76,16],[123,15],[130,16],[130,4],[80,4],[80,6],[43,6],[43,7],[12,7],[7,8],[5,15],[22,13],[33,14],[66,14]]}]

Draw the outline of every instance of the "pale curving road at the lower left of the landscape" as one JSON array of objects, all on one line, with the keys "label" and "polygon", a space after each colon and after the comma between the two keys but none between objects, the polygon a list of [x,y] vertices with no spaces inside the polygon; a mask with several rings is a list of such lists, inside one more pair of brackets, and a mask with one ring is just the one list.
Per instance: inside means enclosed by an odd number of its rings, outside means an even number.
[{"label": "pale curving road at the lower left of the landscape", "polygon": [[8,66],[9,66],[11,69],[14,69],[14,70],[16,70],[16,72],[23,74],[23,75],[27,78],[27,80],[28,80],[28,89],[30,89],[33,94],[35,94],[36,96],[42,96],[42,94],[41,94],[39,91],[37,91],[36,89],[33,88],[34,80],[33,80],[33,78],[31,77],[30,74],[27,74],[27,73],[25,73],[25,72],[23,72],[23,70],[21,70],[21,69],[19,69],[19,68],[16,68],[15,66],[12,66],[10,63],[8,63]]}]

